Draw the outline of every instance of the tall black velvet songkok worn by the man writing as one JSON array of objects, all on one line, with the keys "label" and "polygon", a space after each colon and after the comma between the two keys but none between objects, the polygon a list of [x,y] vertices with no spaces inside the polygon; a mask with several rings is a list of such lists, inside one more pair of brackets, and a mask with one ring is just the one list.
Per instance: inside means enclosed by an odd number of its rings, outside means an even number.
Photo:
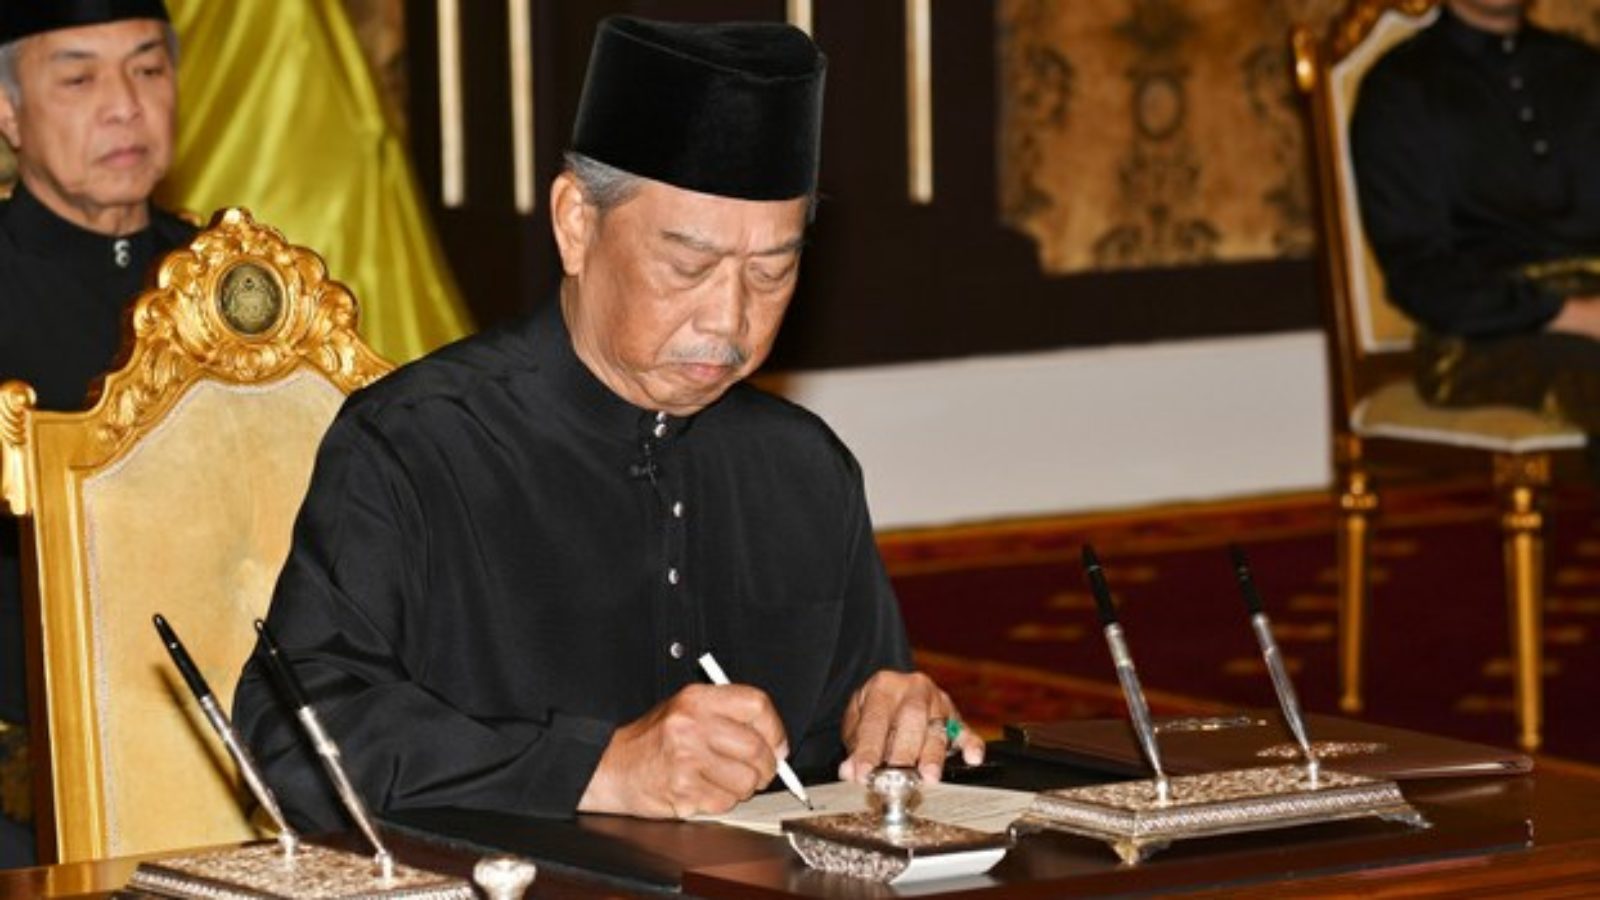
[{"label": "tall black velvet songkok worn by the man writing", "polygon": [[746,200],[816,191],[827,58],[781,22],[600,22],[573,151]]}]

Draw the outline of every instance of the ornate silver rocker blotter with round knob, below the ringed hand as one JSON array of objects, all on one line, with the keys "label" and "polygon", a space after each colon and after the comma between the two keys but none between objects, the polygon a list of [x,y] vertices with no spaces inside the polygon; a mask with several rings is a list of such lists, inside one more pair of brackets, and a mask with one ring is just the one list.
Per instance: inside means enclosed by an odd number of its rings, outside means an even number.
[{"label": "ornate silver rocker blotter with round knob, below the ringed hand", "polygon": [[915,769],[880,767],[867,781],[874,812],[787,818],[789,846],[814,870],[869,881],[912,881],[987,871],[1011,847],[990,834],[910,815]]}]

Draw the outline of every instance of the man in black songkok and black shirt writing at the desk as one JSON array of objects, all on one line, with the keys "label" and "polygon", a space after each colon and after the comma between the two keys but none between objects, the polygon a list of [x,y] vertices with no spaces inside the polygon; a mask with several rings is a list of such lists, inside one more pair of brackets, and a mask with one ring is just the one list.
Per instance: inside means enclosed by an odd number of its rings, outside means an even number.
[{"label": "man in black songkok and black shirt writing at the desk", "polygon": [[[376,809],[686,817],[782,757],[982,757],[910,673],[854,458],[742,383],[798,275],[822,74],[789,26],[605,21],[558,301],[334,421],[269,623]],[[339,825],[258,663],[235,719],[291,818]]]}]

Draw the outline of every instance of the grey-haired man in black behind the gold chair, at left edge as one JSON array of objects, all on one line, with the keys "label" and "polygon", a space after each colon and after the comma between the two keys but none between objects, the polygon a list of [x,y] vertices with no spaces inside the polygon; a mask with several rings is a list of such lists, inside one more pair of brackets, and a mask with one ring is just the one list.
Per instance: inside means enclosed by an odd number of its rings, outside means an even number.
[{"label": "grey-haired man in black behind the gold chair, at left edge", "polygon": [[[160,0],[0,0],[0,136],[19,183],[0,200],[0,381],[40,408],[85,407],[123,307],[194,229],[150,203],[173,146],[173,32]],[[0,517],[0,866],[32,862],[26,817],[21,572]]]}]

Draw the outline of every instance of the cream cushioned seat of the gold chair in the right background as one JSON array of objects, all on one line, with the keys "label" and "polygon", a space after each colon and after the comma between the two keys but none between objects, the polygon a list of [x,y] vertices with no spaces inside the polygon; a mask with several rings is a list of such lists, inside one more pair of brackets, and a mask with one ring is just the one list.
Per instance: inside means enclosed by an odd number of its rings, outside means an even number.
[{"label": "cream cushioned seat of the gold chair in the right background", "polygon": [[1350,431],[1490,453],[1581,450],[1587,442],[1573,424],[1522,407],[1435,407],[1411,381],[1390,381],[1362,397]]}]

